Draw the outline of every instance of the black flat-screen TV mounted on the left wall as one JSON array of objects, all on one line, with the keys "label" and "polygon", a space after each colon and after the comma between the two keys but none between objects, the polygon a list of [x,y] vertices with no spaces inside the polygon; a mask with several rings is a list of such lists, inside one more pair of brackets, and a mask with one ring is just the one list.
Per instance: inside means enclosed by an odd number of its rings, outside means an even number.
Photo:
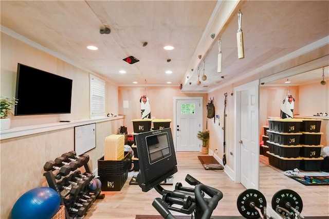
[{"label": "black flat-screen TV mounted on the left wall", "polygon": [[17,64],[15,116],[71,113],[72,80]]}]

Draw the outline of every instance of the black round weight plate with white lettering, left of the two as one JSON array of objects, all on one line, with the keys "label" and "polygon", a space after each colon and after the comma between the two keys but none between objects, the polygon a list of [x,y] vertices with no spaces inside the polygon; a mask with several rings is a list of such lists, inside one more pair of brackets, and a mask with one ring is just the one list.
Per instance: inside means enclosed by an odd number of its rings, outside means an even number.
[{"label": "black round weight plate with white lettering, left of the two", "polygon": [[266,199],[260,191],[255,189],[247,189],[237,197],[237,210],[239,210],[240,214],[245,218],[260,218],[261,216],[258,211],[250,206],[251,203],[254,203],[254,205],[261,209],[261,212],[264,214]]}]

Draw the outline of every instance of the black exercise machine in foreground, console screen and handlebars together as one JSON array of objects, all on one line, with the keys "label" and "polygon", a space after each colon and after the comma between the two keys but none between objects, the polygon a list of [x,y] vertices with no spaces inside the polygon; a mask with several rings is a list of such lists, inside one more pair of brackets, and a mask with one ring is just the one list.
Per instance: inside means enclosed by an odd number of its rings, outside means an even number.
[{"label": "black exercise machine in foreground, console screen and handlebars together", "polygon": [[206,186],[187,174],[185,180],[191,187],[177,182],[175,190],[163,189],[160,183],[177,172],[177,161],[171,129],[139,133],[135,137],[139,158],[137,182],[143,192],[155,189],[162,198],[155,198],[152,205],[163,218],[175,218],[171,211],[194,213],[197,219],[209,219],[218,202],[223,198],[220,190]]}]

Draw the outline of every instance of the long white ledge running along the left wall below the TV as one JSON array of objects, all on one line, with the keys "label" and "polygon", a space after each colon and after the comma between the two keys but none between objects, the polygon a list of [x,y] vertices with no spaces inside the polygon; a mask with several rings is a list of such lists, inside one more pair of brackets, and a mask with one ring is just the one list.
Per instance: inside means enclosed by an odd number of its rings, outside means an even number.
[{"label": "long white ledge running along the left wall below the TV", "polygon": [[0,140],[4,140],[8,138],[16,138],[25,135],[32,135],[37,133],[43,133],[43,132],[49,132],[54,130],[60,130],[60,129],[67,129],[69,127],[86,125],[90,123],[123,119],[123,118],[124,116],[115,116],[115,117],[106,117],[106,118],[98,118],[98,119],[82,119],[82,120],[74,120],[70,122],[55,122],[55,123],[47,123],[47,124],[13,127],[12,129],[8,129],[8,130],[1,130]]}]

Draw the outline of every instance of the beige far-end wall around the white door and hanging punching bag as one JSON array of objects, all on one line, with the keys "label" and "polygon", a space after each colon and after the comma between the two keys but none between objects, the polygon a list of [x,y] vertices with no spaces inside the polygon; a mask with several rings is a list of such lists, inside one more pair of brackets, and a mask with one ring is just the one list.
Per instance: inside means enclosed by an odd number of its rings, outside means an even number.
[{"label": "beige far-end wall around the white door and hanging punching bag", "polygon": [[[140,97],[145,94],[144,87],[119,87],[119,114],[125,115],[125,126],[129,133],[132,133],[132,119],[141,118]],[[150,98],[151,117],[157,119],[174,118],[173,97],[203,97],[203,118],[207,117],[207,94],[182,94],[177,87],[147,87],[147,96]],[[129,108],[123,108],[123,101],[128,101]],[[204,129],[206,120],[204,119]],[[170,124],[173,129],[173,122]]]}]

